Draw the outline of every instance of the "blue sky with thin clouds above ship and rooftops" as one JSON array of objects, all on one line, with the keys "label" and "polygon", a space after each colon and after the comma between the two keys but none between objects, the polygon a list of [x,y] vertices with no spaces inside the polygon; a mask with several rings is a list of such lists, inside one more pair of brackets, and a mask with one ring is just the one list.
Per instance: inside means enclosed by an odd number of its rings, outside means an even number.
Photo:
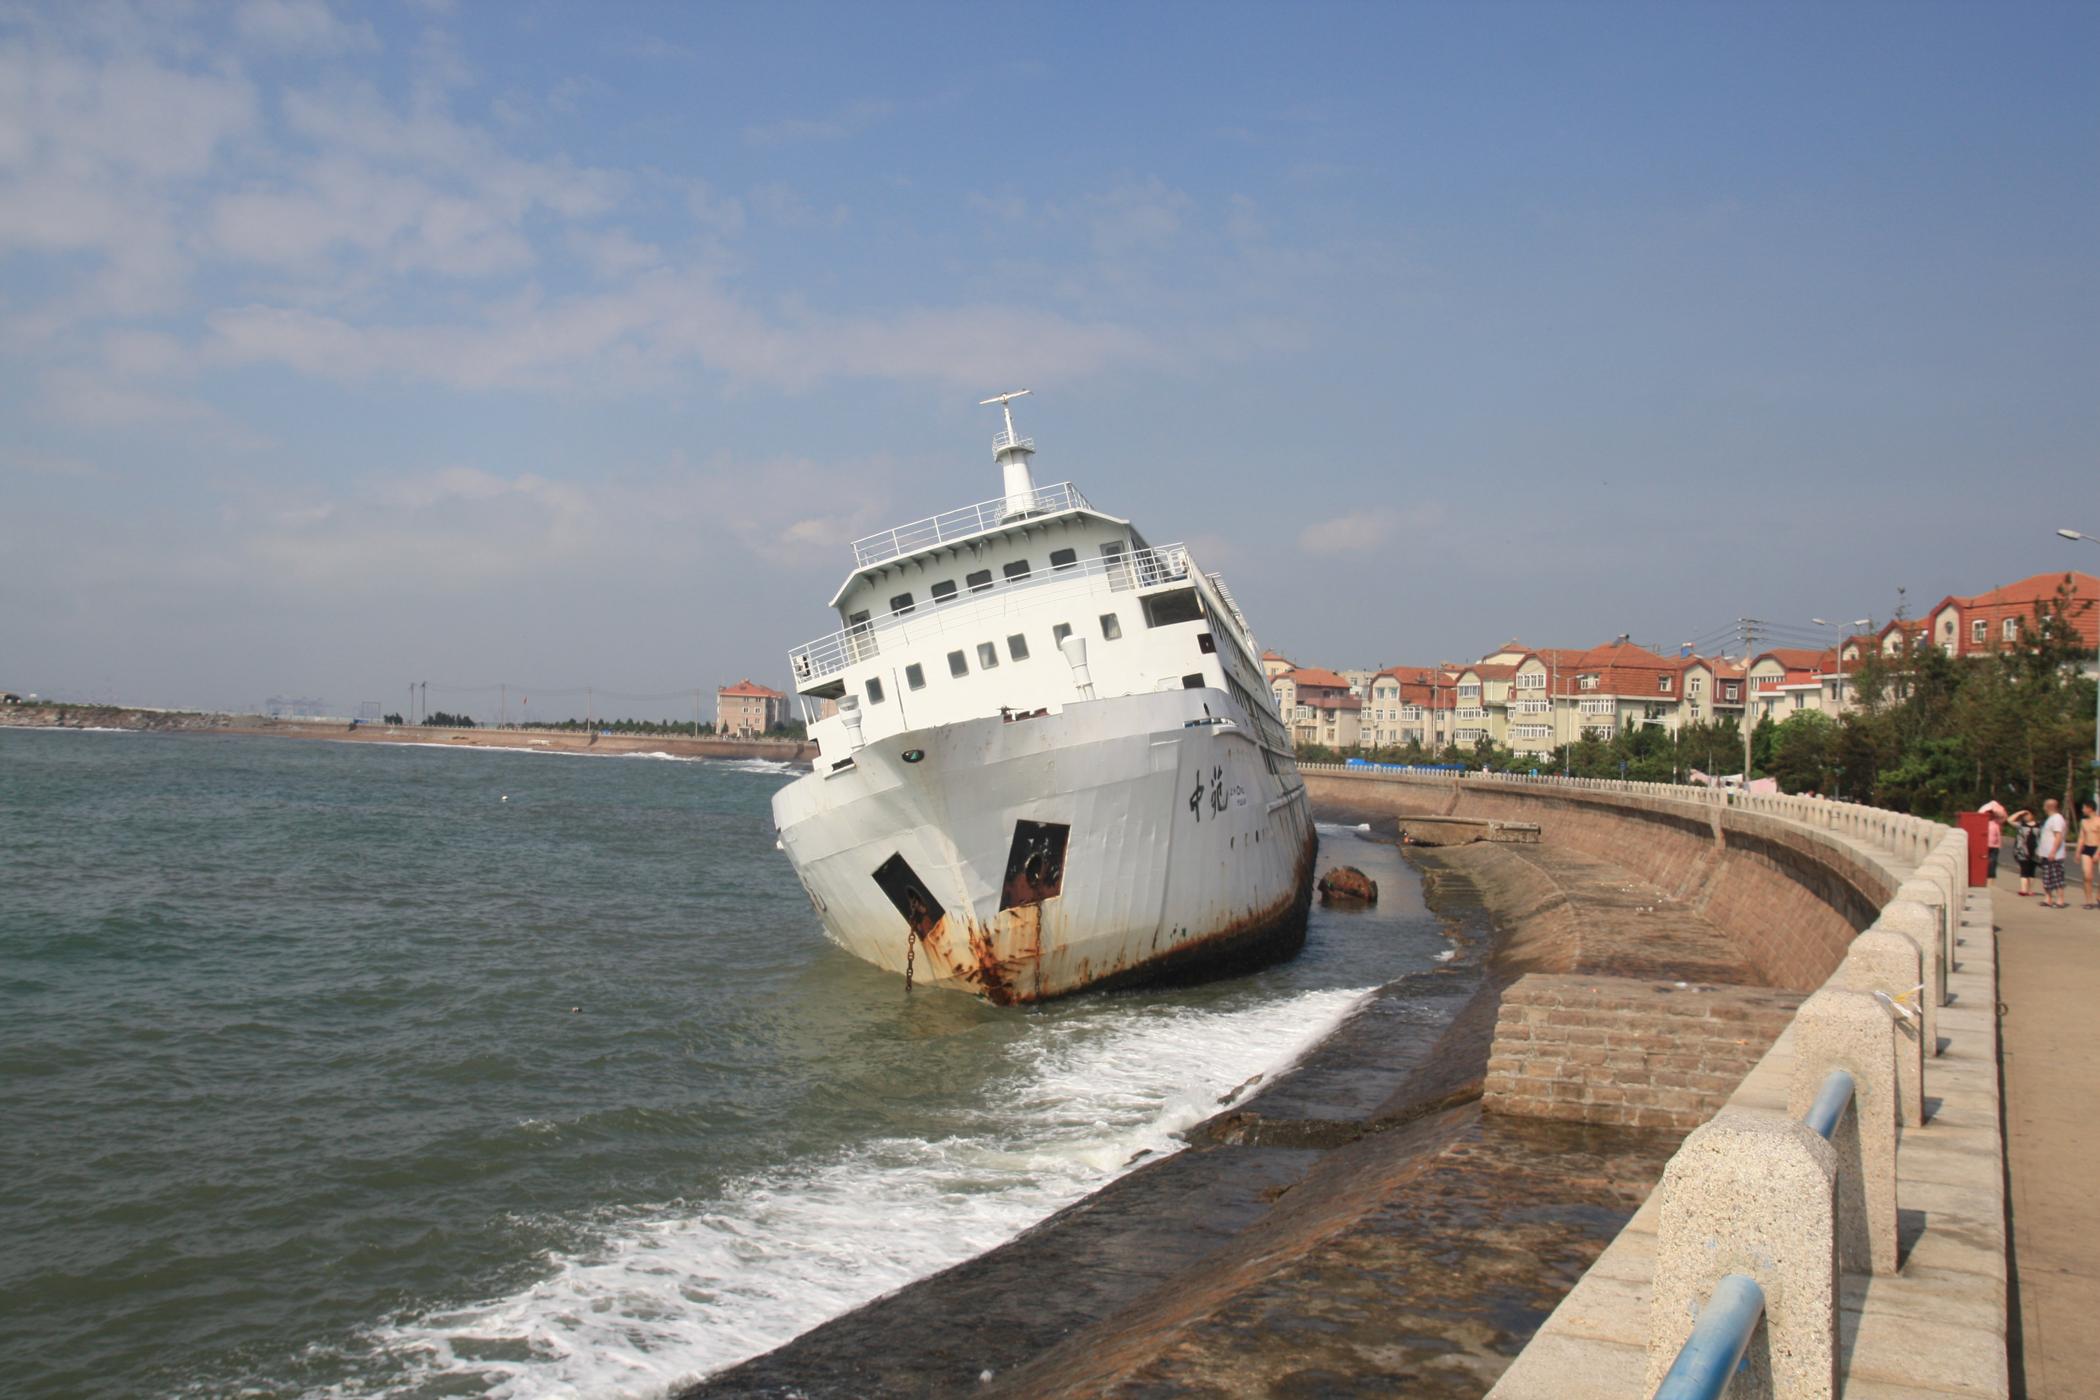
[{"label": "blue sky with thin clouds above ship and rooftops", "polygon": [[855,535],[998,491],[1023,386],[1042,481],[1308,663],[2100,571],[2096,40],[0,6],[0,686],[781,684]]}]

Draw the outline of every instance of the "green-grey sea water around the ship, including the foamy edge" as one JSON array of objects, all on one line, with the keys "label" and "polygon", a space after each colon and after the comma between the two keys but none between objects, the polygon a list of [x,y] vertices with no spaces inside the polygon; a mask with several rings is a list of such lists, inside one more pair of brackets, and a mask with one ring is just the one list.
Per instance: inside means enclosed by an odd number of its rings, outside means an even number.
[{"label": "green-grey sea water around the ship, including the foamy edge", "polygon": [[662,1396],[981,1253],[1447,951],[1002,1010],[827,942],[764,762],[0,730],[10,1396]]}]

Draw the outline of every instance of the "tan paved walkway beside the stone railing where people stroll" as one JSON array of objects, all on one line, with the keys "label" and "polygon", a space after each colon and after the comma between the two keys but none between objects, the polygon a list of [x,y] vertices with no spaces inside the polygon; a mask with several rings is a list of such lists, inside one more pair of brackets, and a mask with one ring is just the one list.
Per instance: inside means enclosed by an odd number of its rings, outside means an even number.
[{"label": "tan paved walkway beside the stone railing where people stroll", "polygon": [[2077,884],[2064,890],[2071,909],[2041,909],[2018,888],[2001,867],[1991,900],[2006,1003],[2014,1394],[2073,1400],[2100,1396],[2100,911],[2079,909]]}]

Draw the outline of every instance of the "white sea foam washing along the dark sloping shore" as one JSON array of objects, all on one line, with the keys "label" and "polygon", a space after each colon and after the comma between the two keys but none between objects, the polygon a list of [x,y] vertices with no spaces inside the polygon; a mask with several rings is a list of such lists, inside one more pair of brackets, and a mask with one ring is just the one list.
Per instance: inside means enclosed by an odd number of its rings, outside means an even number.
[{"label": "white sea foam washing along the dark sloping shore", "polygon": [[519,1295],[378,1329],[378,1371],[395,1373],[388,1390],[441,1383],[491,1400],[662,1396],[1012,1238],[1140,1154],[1178,1150],[1172,1133],[1296,1060],[1363,995],[1239,1010],[1115,1001],[1046,1024],[1010,1052],[1014,1070],[974,1131],[878,1140],[699,1209],[636,1211]]}]

